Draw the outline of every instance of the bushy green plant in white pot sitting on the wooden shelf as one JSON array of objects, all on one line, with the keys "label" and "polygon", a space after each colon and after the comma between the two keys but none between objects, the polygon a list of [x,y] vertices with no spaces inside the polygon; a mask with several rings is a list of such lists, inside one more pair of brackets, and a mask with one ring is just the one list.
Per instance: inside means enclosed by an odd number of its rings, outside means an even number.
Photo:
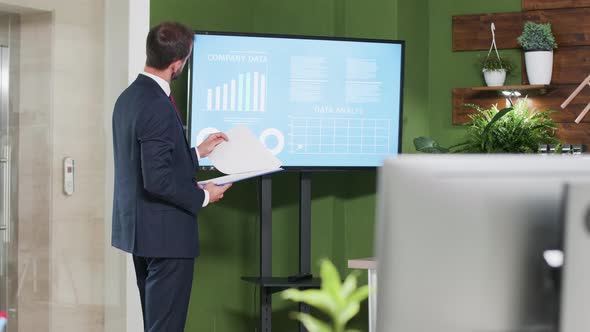
[{"label": "bushy green plant in white pot sitting on the wooden shelf", "polygon": [[557,48],[550,23],[524,24],[517,39],[524,50],[527,77],[530,84],[549,84],[553,73],[553,50]]}]

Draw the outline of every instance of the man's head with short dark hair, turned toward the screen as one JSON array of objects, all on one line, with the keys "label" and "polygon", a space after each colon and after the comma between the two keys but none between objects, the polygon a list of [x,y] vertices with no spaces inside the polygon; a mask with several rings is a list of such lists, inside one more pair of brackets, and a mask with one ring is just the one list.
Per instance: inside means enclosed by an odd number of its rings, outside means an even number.
[{"label": "man's head with short dark hair, turned toward the screen", "polygon": [[193,45],[193,31],[176,22],[164,22],[153,27],[146,42],[146,65],[159,70],[172,62],[186,58]]}]

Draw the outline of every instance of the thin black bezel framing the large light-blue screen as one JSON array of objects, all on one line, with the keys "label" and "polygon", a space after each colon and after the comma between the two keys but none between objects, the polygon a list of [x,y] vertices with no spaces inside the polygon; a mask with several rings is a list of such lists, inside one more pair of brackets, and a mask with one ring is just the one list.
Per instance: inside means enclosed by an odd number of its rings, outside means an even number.
[{"label": "thin black bezel framing the large light-blue screen", "polygon": [[[406,43],[404,40],[395,39],[374,39],[374,38],[349,38],[349,37],[332,37],[332,36],[315,36],[315,35],[289,35],[289,34],[272,34],[272,33],[246,33],[246,32],[229,32],[229,31],[207,31],[194,30],[193,40],[196,35],[215,35],[215,36],[236,36],[236,37],[264,37],[264,38],[282,38],[282,39],[311,39],[311,40],[334,40],[334,41],[352,41],[352,42],[368,42],[368,43],[382,43],[382,44],[398,44],[401,46],[401,67],[400,67],[400,96],[399,96],[399,130],[398,130],[398,146],[397,154],[402,153],[402,133],[403,133],[403,99],[404,99],[404,72],[405,72],[405,51]],[[188,67],[188,84],[187,84],[187,133],[188,142],[190,144],[192,137],[192,83],[193,83],[193,53],[195,45],[193,44],[191,55],[189,57]],[[384,158],[385,160],[385,158]],[[283,169],[290,171],[368,171],[377,169],[380,166],[281,166]],[[214,166],[199,166],[201,170],[215,170]]]}]

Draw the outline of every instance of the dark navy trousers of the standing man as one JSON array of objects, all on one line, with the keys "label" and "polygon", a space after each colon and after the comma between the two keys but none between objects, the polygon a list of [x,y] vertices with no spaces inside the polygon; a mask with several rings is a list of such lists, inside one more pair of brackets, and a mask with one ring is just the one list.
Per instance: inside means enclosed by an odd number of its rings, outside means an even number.
[{"label": "dark navy trousers of the standing man", "polygon": [[183,332],[194,258],[133,256],[145,332]]}]

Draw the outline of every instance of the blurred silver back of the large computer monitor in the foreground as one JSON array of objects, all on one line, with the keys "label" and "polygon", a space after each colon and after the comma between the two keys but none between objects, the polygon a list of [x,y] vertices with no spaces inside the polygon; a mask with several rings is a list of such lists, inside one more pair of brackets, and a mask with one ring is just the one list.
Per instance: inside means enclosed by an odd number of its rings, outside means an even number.
[{"label": "blurred silver back of the large computer monitor in the foreground", "polygon": [[589,158],[387,160],[378,331],[555,331],[559,294],[543,253],[562,245],[568,181],[590,181]]}]

